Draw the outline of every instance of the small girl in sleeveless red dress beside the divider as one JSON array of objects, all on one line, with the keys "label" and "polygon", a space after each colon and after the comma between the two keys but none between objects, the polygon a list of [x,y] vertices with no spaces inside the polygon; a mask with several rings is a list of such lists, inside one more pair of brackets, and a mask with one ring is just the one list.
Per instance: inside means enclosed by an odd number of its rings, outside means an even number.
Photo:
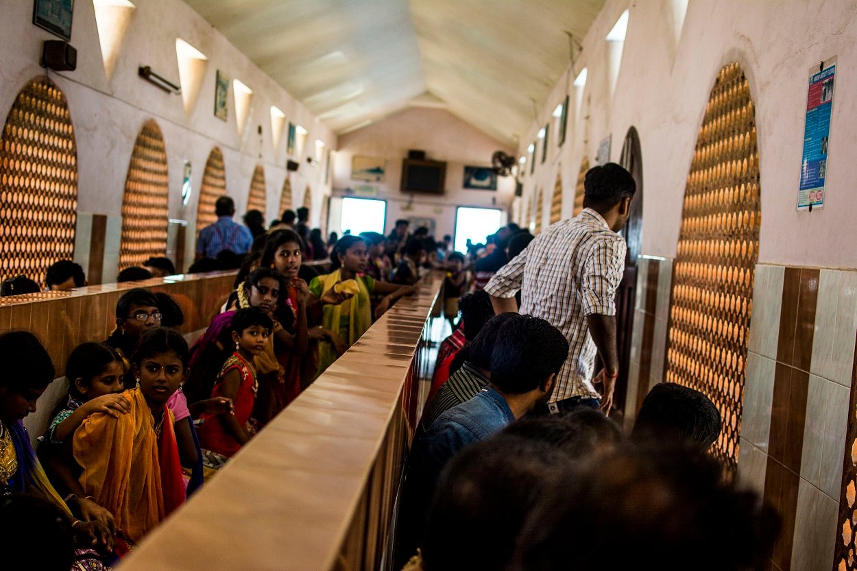
[{"label": "small girl in sleeveless red dress beside the divider", "polygon": [[202,424],[197,433],[203,448],[203,462],[207,466],[222,466],[225,458],[231,458],[255,434],[255,424],[250,417],[259,385],[253,358],[265,350],[272,328],[271,317],[260,308],[237,310],[232,317],[231,335],[235,352],[223,364],[214,382],[212,398],[231,399],[235,412],[202,414]]}]

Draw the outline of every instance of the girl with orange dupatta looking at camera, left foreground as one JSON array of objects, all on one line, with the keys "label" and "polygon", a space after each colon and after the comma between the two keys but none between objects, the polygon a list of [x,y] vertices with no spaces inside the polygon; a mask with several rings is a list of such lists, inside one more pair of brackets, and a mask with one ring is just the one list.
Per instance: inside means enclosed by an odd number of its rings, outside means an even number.
[{"label": "girl with orange dupatta looking at camera, left foreground", "polygon": [[166,401],[187,376],[188,344],[168,328],[142,334],[131,358],[137,387],[129,412],[97,412],[75,431],[81,486],[113,514],[122,556],[184,501],[172,413]]}]

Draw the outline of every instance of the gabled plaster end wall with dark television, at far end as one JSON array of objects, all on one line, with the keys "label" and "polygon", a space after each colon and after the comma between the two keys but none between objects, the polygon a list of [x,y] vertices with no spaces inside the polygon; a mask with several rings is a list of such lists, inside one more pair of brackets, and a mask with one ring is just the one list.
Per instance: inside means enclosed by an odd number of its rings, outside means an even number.
[{"label": "gabled plaster end wall with dark television, at far end", "polygon": [[[425,151],[427,159],[446,161],[446,191],[443,195],[403,193],[399,190],[402,159],[408,151]],[[435,235],[452,235],[456,207],[497,207],[509,212],[515,191],[513,177],[497,177],[497,190],[464,189],[464,165],[490,166],[494,151],[513,153],[493,137],[464,123],[448,111],[411,108],[378,123],[339,137],[339,151],[333,160],[333,193],[345,195],[345,189],[372,186],[378,198],[387,201],[387,233],[396,219],[411,216],[433,218]],[[381,183],[351,179],[354,155],[384,157],[387,172]],[[302,167],[303,168],[303,167]],[[331,223],[334,219],[331,213]]]}]

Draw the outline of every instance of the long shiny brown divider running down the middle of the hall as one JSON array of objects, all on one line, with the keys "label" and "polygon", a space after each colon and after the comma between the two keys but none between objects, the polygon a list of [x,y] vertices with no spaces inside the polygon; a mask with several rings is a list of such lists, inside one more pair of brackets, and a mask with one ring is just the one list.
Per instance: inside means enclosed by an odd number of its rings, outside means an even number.
[{"label": "long shiny brown divider running down the middle of the hall", "polygon": [[440,339],[443,274],[402,298],[120,563],[120,571],[381,569]]}]

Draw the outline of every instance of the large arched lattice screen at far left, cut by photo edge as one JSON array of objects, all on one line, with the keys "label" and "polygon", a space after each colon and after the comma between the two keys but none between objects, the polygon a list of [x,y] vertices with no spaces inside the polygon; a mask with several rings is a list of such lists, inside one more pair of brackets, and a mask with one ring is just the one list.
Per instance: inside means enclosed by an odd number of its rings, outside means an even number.
[{"label": "large arched lattice screen at far left, cut by photo edge", "polygon": [[47,78],[18,93],[0,141],[3,279],[41,282],[75,251],[77,150],[63,92]]}]

